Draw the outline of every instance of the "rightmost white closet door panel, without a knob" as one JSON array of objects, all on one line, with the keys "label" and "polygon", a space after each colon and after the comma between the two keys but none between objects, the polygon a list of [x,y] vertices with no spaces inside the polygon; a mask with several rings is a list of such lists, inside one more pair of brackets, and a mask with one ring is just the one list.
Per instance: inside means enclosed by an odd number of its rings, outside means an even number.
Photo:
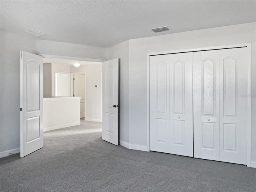
[{"label": "rightmost white closet door panel, without a knob", "polygon": [[220,161],[246,162],[246,48],[220,50]]}]

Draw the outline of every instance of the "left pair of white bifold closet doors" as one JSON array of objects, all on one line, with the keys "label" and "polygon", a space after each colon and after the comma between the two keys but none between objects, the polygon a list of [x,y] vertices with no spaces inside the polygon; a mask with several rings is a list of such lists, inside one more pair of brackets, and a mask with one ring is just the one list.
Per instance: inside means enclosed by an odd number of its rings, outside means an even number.
[{"label": "left pair of white bifold closet doors", "polygon": [[150,150],[193,156],[193,54],[150,56]]}]

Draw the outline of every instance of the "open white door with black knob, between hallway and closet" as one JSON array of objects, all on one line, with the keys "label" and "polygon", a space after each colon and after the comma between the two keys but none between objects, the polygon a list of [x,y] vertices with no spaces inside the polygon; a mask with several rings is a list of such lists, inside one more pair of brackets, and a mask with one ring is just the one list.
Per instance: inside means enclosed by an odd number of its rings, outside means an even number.
[{"label": "open white door with black knob, between hallway and closet", "polygon": [[102,62],[102,139],[118,145],[119,60]]}]

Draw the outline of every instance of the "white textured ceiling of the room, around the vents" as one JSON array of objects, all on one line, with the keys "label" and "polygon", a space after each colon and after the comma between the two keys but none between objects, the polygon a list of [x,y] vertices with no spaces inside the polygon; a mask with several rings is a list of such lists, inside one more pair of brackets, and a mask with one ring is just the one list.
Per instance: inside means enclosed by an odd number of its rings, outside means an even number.
[{"label": "white textured ceiling of the room, around the vents", "polygon": [[[0,1],[1,30],[99,47],[128,39],[256,21],[256,1]],[[154,33],[150,28],[169,26]]]}]

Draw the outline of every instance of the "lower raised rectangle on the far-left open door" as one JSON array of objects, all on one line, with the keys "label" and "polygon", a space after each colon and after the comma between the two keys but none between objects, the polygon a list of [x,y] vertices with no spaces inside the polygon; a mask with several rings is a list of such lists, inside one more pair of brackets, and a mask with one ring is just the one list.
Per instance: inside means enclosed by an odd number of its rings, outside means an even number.
[{"label": "lower raised rectangle on the far-left open door", "polygon": [[27,119],[27,143],[40,136],[40,116]]}]

